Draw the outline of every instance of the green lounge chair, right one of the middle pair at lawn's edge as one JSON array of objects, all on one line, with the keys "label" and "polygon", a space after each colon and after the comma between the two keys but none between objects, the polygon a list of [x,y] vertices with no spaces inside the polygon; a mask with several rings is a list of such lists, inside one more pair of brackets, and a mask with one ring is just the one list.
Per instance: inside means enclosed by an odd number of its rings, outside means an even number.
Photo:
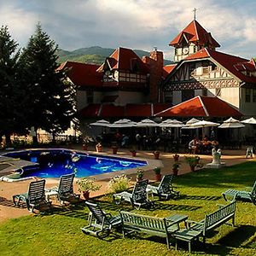
[{"label": "green lounge chair, right one of the middle pair at lawn's edge", "polygon": [[179,191],[173,189],[172,182],[173,182],[174,175],[167,174],[162,177],[160,184],[158,187],[153,185],[147,186],[147,192],[152,193],[153,195],[158,195],[161,199],[164,197],[166,200],[171,198],[172,196],[179,195]]}]

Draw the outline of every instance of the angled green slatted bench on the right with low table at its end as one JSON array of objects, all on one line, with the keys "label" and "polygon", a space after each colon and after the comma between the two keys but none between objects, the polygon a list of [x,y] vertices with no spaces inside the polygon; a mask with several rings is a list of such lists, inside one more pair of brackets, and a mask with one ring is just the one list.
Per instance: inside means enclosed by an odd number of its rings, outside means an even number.
[{"label": "angled green slatted bench on the right with low table at its end", "polygon": [[232,220],[232,226],[234,226],[236,201],[232,201],[228,205],[221,205],[219,207],[220,208],[217,211],[207,214],[200,222],[187,220],[186,222],[189,224],[189,228],[175,231],[172,236],[176,239],[176,249],[178,240],[188,241],[190,253],[191,242],[198,240],[200,236],[203,237],[203,244],[205,246],[206,236],[210,230],[218,228],[218,226],[225,224],[230,219]]}]

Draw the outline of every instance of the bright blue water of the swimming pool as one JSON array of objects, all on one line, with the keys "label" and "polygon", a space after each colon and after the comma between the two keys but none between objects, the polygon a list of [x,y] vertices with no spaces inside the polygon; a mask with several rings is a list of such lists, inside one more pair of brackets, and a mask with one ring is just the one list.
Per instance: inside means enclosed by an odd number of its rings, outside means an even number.
[{"label": "bright blue water of the swimming pool", "polygon": [[147,165],[147,161],[143,160],[85,154],[67,149],[32,149],[4,155],[35,163],[35,166],[23,168],[22,177],[61,177],[72,172],[76,173],[76,177],[87,177]]}]

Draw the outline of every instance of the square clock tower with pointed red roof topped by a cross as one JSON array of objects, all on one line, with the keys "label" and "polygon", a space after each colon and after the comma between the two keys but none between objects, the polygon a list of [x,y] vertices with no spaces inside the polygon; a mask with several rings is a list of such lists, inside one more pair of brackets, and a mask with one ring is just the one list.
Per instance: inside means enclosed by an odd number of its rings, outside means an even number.
[{"label": "square clock tower with pointed red roof topped by a cross", "polygon": [[202,48],[209,48],[215,50],[220,47],[218,42],[212,38],[210,32],[207,32],[197,20],[192,20],[176,38],[172,39],[169,43],[170,46],[175,48],[174,61],[181,61],[185,57],[194,54]]}]

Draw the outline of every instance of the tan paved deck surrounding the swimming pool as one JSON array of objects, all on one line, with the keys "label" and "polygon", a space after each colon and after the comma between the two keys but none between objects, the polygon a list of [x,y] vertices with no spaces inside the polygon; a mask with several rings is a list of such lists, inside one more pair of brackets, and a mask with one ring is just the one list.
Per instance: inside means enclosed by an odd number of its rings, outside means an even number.
[{"label": "tan paved deck surrounding the swimming pool", "polygon": [[[81,150],[82,146],[76,145],[73,146],[73,149],[75,150]],[[93,150],[92,148],[89,148]],[[103,148],[103,152],[101,154],[112,154],[112,148]],[[236,165],[241,162],[245,162],[247,160],[245,157],[246,149],[241,150],[223,150],[221,160],[226,163],[227,166]],[[95,154],[95,151],[89,151],[89,153]],[[162,175],[165,175],[166,173],[172,172],[172,164],[174,162],[172,158],[173,153],[165,153],[160,152],[160,160],[154,160],[154,154],[150,151],[137,151],[137,156],[134,157],[134,159],[147,159],[149,162],[156,163],[155,161],[159,162],[161,167],[161,173]],[[179,162],[181,163],[181,166],[179,168],[178,175],[182,175],[184,173],[190,172],[189,166],[184,161],[184,155],[185,154],[179,154]],[[117,156],[123,156],[123,157],[129,157],[131,158],[131,153],[129,149],[122,148],[119,149],[119,152]],[[212,156],[211,155],[200,155],[201,157],[201,163],[207,164],[212,162]],[[198,171],[200,172],[200,170]],[[116,175],[117,173],[115,173]],[[134,183],[136,181],[136,173],[127,172],[127,175],[131,177],[131,182]],[[105,195],[105,193],[108,190],[108,181],[109,178],[113,175],[104,174],[104,177],[101,177],[100,180],[99,177],[97,177],[96,183],[99,183],[102,185],[102,188],[99,191],[92,192],[90,197],[96,196],[96,195]],[[146,171],[144,173],[144,177],[149,179],[149,182],[154,181],[154,171]],[[20,182],[3,182],[0,181],[0,222],[3,222],[4,220],[8,218],[18,218],[20,216],[29,215],[32,214],[26,210],[25,207],[14,207],[12,202],[12,195],[21,194],[27,191],[28,184],[32,181],[32,179],[24,180]],[[55,186],[59,183],[58,179],[49,178],[46,180],[46,188]],[[74,190],[76,193],[79,193],[77,190],[77,185],[74,184]],[[54,204],[58,205],[58,202],[53,202]]]}]

